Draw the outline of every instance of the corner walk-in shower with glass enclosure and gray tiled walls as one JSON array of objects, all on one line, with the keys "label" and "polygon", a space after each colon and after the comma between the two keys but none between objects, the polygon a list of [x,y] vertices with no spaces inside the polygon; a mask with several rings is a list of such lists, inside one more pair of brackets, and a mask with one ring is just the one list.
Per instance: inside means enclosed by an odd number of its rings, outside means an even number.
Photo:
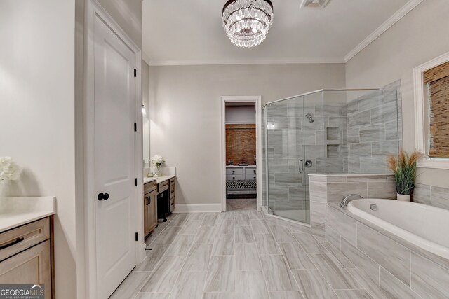
[{"label": "corner walk-in shower with glass enclosure and gray tiled walls", "polygon": [[[399,103],[400,104],[400,103]],[[401,142],[398,90],[319,90],[262,111],[262,205],[310,223],[308,174],[387,173]]]}]

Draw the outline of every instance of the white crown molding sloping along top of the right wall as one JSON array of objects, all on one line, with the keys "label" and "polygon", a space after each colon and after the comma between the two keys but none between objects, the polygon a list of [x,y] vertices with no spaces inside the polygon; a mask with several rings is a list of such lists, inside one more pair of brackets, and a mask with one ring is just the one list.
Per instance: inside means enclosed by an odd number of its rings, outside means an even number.
[{"label": "white crown molding sloping along top of the right wall", "polygon": [[384,32],[386,32],[391,26],[396,24],[399,20],[401,20],[404,16],[406,16],[410,11],[413,10],[416,6],[421,4],[421,2],[424,0],[410,0],[408,1],[404,6],[401,7],[396,13],[391,15],[388,20],[382,23],[380,27],[377,27],[373,33],[368,35],[366,39],[364,39],[361,43],[359,43],[356,48],[352,49],[351,52],[347,53],[347,55],[344,56],[344,63],[351,60],[352,57],[356,56],[358,53],[361,52],[364,48],[366,48],[370,43],[375,41],[379,36],[381,36]]}]

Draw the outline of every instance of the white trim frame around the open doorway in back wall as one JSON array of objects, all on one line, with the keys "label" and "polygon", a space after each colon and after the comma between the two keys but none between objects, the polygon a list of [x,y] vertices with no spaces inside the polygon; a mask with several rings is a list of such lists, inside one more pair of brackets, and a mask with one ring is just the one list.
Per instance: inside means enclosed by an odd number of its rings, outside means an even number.
[{"label": "white trim frame around the open doorway in back wall", "polygon": [[257,211],[260,211],[262,206],[262,131],[260,126],[262,125],[262,96],[260,95],[237,95],[237,96],[221,96],[220,97],[220,136],[221,136],[221,204],[222,211],[226,211],[226,103],[238,103],[238,102],[254,102],[255,104],[255,146],[256,146],[256,165],[257,165]]}]

